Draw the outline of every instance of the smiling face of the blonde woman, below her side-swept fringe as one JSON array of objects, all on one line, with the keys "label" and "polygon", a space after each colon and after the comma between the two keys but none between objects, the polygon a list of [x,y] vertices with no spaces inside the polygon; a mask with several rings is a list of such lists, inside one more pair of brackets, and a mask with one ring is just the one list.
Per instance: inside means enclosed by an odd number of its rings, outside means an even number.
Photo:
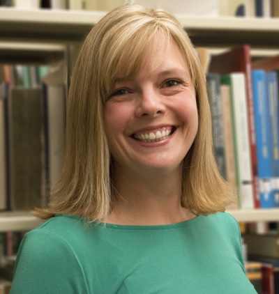
[{"label": "smiling face of the blonde woman, below her side-swept fringe", "polygon": [[105,105],[116,173],[181,169],[197,134],[195,88],[179,47],[156,38],[149,49],[140,72],[128,80],[119,77]]}]

